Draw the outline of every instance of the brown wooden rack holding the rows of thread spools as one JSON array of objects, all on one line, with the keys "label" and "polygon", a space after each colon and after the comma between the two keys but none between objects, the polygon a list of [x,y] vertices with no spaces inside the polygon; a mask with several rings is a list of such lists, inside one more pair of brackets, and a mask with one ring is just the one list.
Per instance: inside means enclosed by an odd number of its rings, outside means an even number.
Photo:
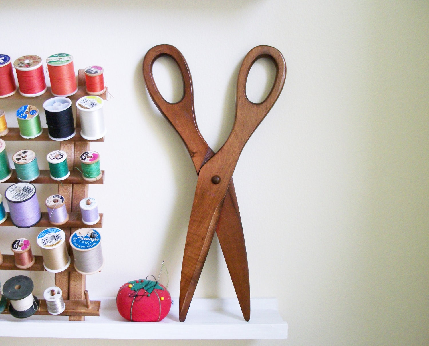
[{"label": "brown wooden rack holding the rows of thread spools", "polygon": [[[84,70],[79,70],[78,75],[78,91],[69,96],[69,99],[77,100],[82,96],[86,96],[86,86],[85,86],[85,73]],[[99,95],[101,98],[106,99],[107,87],[105,93]],[[20,93],[15,93],[11,96],[8,96],[3,101],[8,99],[21,99],[28,102],[29,100],[45,100],[54,97],[51,94],[51,88],[48,87],[48,90],[40,96],[28,98],[21,96]],[[9,127],[9,133],[2,137],[5,141],[28,141],[21,137],[19,134],[18,127]],[[43,128],[43,132],[36,138],[30,139],[30,141],[52,141],[48,137],[48,129]],[[97,142],[104,141],[104,138],[94,140]],[[79,202],[88,197],[88,184],[104,184],[104,171],[102,171],[103,176],[97,181],[90,182],[85,181],[82,178],[82,174],[75,169],[75,167],[80,166],[80,154],[84,151],[90,150],[90,142],[80,135],[80,119],[76,114],[76,135],[73,138],[70,138],[67,141],[60,141],[60,150],[63,150],[67,153],[67,163],[70,170],[69,178],[63,180],[60,184],[57,181],[54,181],[50,177],[49,170],[40,170],[40,176],[36,180],[32,181],[32,184],[58,184],[58,194],[64,196],[66,199],[66,208],[69,213],[69,221],[60,228],[66,233],[66,245],[69,255],[71,257],[71,263],[69,267],[60,273],[55,274],[55,286],[60,287],[63,291],[63,299],[66,304],[66,309],[63,313],[60,313],[59,316],[69,316],[69,321],[85,321],[85,316],[100,316],[100,301],[91,301],[89,299],[88,291],[85,289],[85,275],[78,273],[74,267],[74,258],[73,252],[70,249],[69,238],[70,235],[79,228],[88,227],[82,222],[82,217],[79,208]],[[16,171],[13,170],[12,176],[4,181],[3,184],[18,183],[18,178],[16,177]],[[13,226],[10,217],[0,224],[1,226]],[[42,220],[37,223],[34,227],[52,227],[53,225],[49,223],[48,213],[42,213]],[[103,227],[103,214],[100,214],[100,221],[95,225],[92,225],[94,228]],[[34,256],[36,262],[31,267],[31,271],[44,271],[43,267],[43,258],[42,256]],[[0,265],[0,270],[20,270],[15,267],[15,259],[13,255],[3,255],[3,263]],[[30,270],[30,269],[23,269]],[[7,311],[7,308],[5,312]],[[39,310],[35,315],[49,315],[48,309],[46,306],[46,301],[40,299]]]}]

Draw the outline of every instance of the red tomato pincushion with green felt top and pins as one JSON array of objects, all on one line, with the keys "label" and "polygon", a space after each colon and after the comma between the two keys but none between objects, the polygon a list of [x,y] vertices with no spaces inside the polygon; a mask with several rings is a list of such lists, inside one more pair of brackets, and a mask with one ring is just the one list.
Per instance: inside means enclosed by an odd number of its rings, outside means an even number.
[{"label": "red tomato pincushion with green felt top and pins", "polygon": [[158,322],[169,313],[171,296],[156,281],[128,281],[118,291],[116,306],[121,316],[128,321]]}]

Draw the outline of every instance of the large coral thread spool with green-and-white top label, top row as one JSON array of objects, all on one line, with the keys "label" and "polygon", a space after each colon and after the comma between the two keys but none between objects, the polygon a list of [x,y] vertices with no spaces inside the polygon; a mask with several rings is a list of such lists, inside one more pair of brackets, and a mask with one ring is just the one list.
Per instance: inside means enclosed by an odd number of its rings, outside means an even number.
[{"label": "large coral thread spool with green-and-white top label, top row", "polygon": [[51,93],[54,96],[71,96],[78,91],[73,57],[70,54],[59,53],[46,59]]}]

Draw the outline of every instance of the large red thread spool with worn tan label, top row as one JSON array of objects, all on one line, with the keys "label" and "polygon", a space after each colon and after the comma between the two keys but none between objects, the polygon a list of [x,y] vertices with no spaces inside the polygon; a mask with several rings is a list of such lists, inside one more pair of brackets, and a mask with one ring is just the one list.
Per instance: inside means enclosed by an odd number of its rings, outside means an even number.
[{"label": "large red thread spool with worn tan label, top row", "polygon": [[41,57],[25,55],[16,59],[13,66],[18,77],[19,93],[22,96],[35,97],[48,90]]}]

